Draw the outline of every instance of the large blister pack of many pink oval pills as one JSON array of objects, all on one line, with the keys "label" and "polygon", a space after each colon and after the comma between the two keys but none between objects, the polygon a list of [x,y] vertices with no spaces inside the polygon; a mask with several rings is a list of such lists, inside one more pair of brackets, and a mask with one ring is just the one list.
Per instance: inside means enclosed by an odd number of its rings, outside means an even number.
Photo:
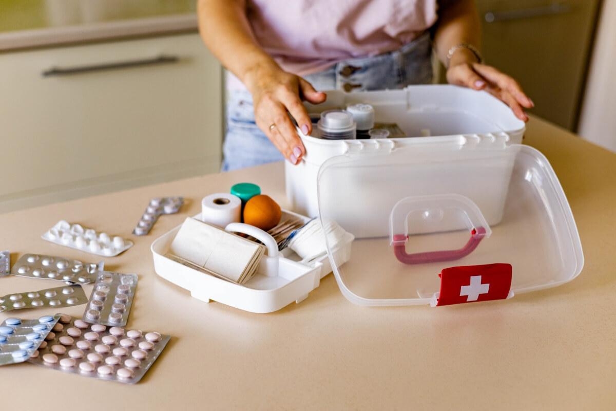
[{"label": "large blister pack of many pink oval pills", "polygon": [[60,325],[62,330],[30,357],[31,363],[127,384],[137,383],[145,375],[170,338],[75,318]]}]

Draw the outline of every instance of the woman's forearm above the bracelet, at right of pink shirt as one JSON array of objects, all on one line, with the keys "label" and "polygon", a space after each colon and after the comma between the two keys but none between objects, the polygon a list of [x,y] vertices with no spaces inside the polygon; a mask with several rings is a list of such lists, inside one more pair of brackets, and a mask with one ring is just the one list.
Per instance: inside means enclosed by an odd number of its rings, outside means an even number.
[{"label": "woman's forearm above the bracelet, at right of pink shirt", "polygon": [[[439,21],[434,32],[434,45],[439,60],[448,66],[448,51],[460,43],[472,44],[480,49],[481,33],[479,15],[473,0],[439,0]],[[468,49],[458,49],[452,63],[475,62],[475,55]]]}]

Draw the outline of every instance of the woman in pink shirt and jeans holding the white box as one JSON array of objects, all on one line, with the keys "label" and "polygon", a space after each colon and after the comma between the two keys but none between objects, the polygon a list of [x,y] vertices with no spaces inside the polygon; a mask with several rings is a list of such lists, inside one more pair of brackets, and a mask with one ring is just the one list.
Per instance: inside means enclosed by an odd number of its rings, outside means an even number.
[{"label": "woman in pink shirt and jeans holding the white box", "polygon": [[[490,92],[527,121],[533,102],[516,81],[484,65],[472,0],[200,0],[206,46],[227,76],[224,170],[305,153],[312,123],[302,100],[317,90],[402,88],[432,80],[431,47],[447,81]],[[281,154],[282,153],[282,154]]]}]

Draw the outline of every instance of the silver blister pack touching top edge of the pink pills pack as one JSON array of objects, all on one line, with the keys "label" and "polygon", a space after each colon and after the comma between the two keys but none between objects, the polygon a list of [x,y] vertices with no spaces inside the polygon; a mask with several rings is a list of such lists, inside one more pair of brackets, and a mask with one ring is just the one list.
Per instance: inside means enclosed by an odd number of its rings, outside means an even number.
[{"label": "silver blister pack touching top edge of the pink pills pack", "polygon": [[91,324],[126,325],[137,290],[137,274],[100,272],[81,318]]}]

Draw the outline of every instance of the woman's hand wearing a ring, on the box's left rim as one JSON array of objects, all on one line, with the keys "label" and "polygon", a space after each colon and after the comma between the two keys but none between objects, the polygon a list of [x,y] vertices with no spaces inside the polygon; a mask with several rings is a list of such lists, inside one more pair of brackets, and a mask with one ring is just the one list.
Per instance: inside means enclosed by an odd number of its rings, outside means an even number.
[{"label": "woman's hand wearing a ring, on the box's left rim", "polygon": [[275,65],[254,67],[246,73],[244,80],[253,96],[257,126],[291,164],[299,163],[306,149],[288,113],[297,121],[301,131],[309,134],[312,121],[302,99],[319,104],[325,101],[325,93],[316,91],[303,78]]}]

